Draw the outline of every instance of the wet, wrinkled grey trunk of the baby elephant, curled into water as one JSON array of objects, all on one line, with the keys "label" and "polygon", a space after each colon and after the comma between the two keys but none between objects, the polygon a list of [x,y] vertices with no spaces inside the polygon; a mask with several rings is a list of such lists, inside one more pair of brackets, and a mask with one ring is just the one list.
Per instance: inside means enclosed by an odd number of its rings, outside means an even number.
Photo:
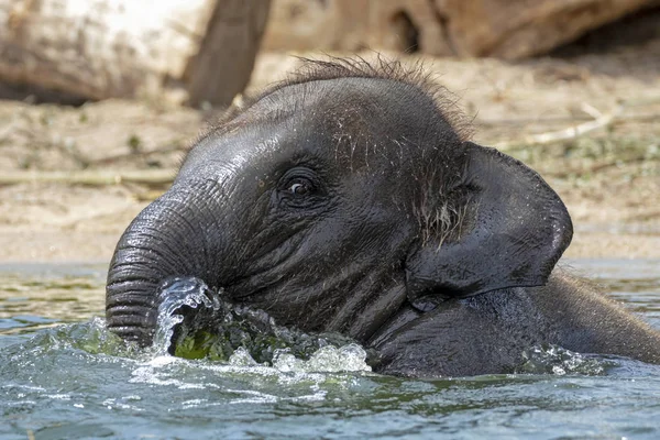
[{"label": "wet, wrinkled grey trunk of the baby elephant, curled into water", "polygon": [[123,339],[151,344],[165,279],[194,276],[219,286],[219,253],[212,251],[219,251],[222,238],[208,233],[219,228],[199,194],[170,190],[147,206],[117,244],[108,271],[106,318],[108,328]]}]

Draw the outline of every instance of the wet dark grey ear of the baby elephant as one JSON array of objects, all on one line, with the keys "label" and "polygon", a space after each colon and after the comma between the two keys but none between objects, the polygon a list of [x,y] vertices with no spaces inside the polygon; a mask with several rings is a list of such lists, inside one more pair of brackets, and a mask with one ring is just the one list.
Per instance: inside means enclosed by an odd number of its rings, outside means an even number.
[{"label": "wet dark grey ear of the baby elephant", "polygon": [[420,310],[448,298],[543,285],[573,234],[565,206],[541,176],[495,148],[463,146],[465,170],[433,208],[453,200],[451,212],[463,216],[449,229],[460,232],[427,233],[406,261],[408,298]]}]

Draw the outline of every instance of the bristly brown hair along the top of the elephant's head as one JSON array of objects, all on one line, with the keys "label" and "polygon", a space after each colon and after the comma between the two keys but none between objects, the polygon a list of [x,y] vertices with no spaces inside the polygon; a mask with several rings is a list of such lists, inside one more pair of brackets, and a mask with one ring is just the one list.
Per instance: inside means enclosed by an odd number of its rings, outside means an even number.
[{"label": "bristly brown hair along the top of the elephant's head", "polygon": [[[472,133],[471,124],[459,110],[457,106],[457,98],[449,92],[444,87],[433,80],[433,76],[426,73],[424,65],[417,63],[411,67],[404,66],[398,61],[387,61],[378,55],[375,61],[367,62],[361,57],[353,58],[330,58],[328,61],[316,61],[308,58],[300,58],[302,65],[296,72],[289,74],[289,76],[279,82],[272,85],[260,94],[246,96],[239,102],[234,102],[220,119],[209,128],[200,140],[210,135],[222,135],[228,131],[232,131],[240,127],[249,125],[251,122],[277,122],[277,120],[289,117],[293,112],[302,111],[297,106],[298,100],[305,101],[311,98],[317,90],[323,88],[292,88],[292,86],[308,85],[318,81],[340,81],[345,78],[363,78],[373,80],[386,80],[391,81],[392,86],[389,89],[385,87],[376,87],[378,90],[380,98],[376,101],[369,102],[369,96],[361,94],[356,102],[353,105],[365,105],[365,106],[378,106],[383,102],[392,103],[394,101],[392,95],[394,88],[402,89],[400,86],[407,87],[408,97],[413,102],[429,102],[432,106],[432,114],[422,114],[424,119],[428,118],[440,118],[449,128],[458,135],[460,140],[468,140]],[[398,84],[397,84],[398,82]],[[287,88],[290,88],[289,94]],[[331,87],[326,87],[326,89]],[[341,89],[337,87],[336,89]],[[302,96],[294,96],[294,91],[302,90]],[[389,99],[389,101],[388,101]],[[405,108],[404,103],[394,102],[394,106],[399,107],[402,111],[419,112],[418,106],[409,106]],[[427,108],[427,106],[424,106]],[[248,116],[248,118],[240,118],[241,116]]]}]

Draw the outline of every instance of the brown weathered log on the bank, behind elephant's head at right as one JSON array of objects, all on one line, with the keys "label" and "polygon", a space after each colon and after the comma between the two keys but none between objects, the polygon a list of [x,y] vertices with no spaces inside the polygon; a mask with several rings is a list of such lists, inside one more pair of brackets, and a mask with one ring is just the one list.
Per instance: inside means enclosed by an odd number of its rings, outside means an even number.
[{"label": "brown weathered log on the bank, behind elephant's head at right", "polygon": [[520,58],[658,0],[273,0],[267,50],[373,50]]}]

